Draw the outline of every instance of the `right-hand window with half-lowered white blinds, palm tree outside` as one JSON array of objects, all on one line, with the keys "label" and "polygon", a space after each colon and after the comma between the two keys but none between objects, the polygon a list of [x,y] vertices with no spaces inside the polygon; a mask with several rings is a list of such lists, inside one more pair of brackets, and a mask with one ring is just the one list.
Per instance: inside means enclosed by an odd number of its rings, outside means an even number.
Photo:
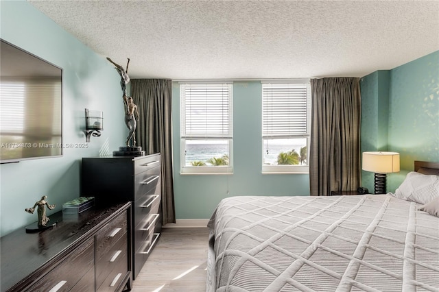
[{"label": "right-hand window with half-lowered white blinds, palm tree outside", "polygon": [[262,84],[262,171],[307,173],[311,125],[309,82]]}]

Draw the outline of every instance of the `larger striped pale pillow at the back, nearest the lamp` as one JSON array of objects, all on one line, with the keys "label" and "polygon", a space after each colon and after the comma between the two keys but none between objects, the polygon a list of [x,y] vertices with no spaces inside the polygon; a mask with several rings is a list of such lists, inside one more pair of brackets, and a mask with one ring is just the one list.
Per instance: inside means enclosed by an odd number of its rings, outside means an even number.
[{"label": "larger striped pale pillow at the back, nearest the lamp", "polygon": [[427,204],[439,197],[439,175],[425,175],[414,171],[407,173],[394,196],[406,201]]}]

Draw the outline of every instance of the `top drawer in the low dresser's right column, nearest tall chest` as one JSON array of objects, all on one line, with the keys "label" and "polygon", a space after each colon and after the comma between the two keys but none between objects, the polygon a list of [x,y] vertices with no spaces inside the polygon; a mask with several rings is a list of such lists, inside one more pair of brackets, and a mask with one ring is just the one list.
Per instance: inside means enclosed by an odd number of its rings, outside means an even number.
[{"label": "top drawer in the low dresser's right column, nearest tall chest", "polygon": [[119,239],[127,240],[127,228],[127,214],[124,212],[97,232],[95,235],[96,261],[106,256]]}]

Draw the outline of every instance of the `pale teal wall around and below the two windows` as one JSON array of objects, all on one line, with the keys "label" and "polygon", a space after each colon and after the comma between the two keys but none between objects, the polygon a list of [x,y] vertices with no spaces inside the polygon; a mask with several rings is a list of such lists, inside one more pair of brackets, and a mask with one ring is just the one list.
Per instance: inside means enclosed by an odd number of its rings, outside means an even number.
[{"label": "pale teal wall around and below the two windows", "polygon": [[262,174],[262,85],[233,84],[233,174],[180,175],[180,86],[173,83],[174,195],[177,219],[207,219],[224,197],[309,195],[307,174]]}]

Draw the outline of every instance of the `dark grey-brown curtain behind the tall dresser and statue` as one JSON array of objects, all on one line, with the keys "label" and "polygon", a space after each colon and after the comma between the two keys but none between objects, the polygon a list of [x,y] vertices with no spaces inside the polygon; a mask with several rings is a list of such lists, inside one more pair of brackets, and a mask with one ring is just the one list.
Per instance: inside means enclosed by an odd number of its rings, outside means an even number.
[{"label": "dark grey-brown curtain behind the tall dresser and statue", "polygon": [[172,176],[171,80],[132,79],[131,96],[139,109],[137,145],[146,154],[161,153],[162,224],[175,223]]}]

